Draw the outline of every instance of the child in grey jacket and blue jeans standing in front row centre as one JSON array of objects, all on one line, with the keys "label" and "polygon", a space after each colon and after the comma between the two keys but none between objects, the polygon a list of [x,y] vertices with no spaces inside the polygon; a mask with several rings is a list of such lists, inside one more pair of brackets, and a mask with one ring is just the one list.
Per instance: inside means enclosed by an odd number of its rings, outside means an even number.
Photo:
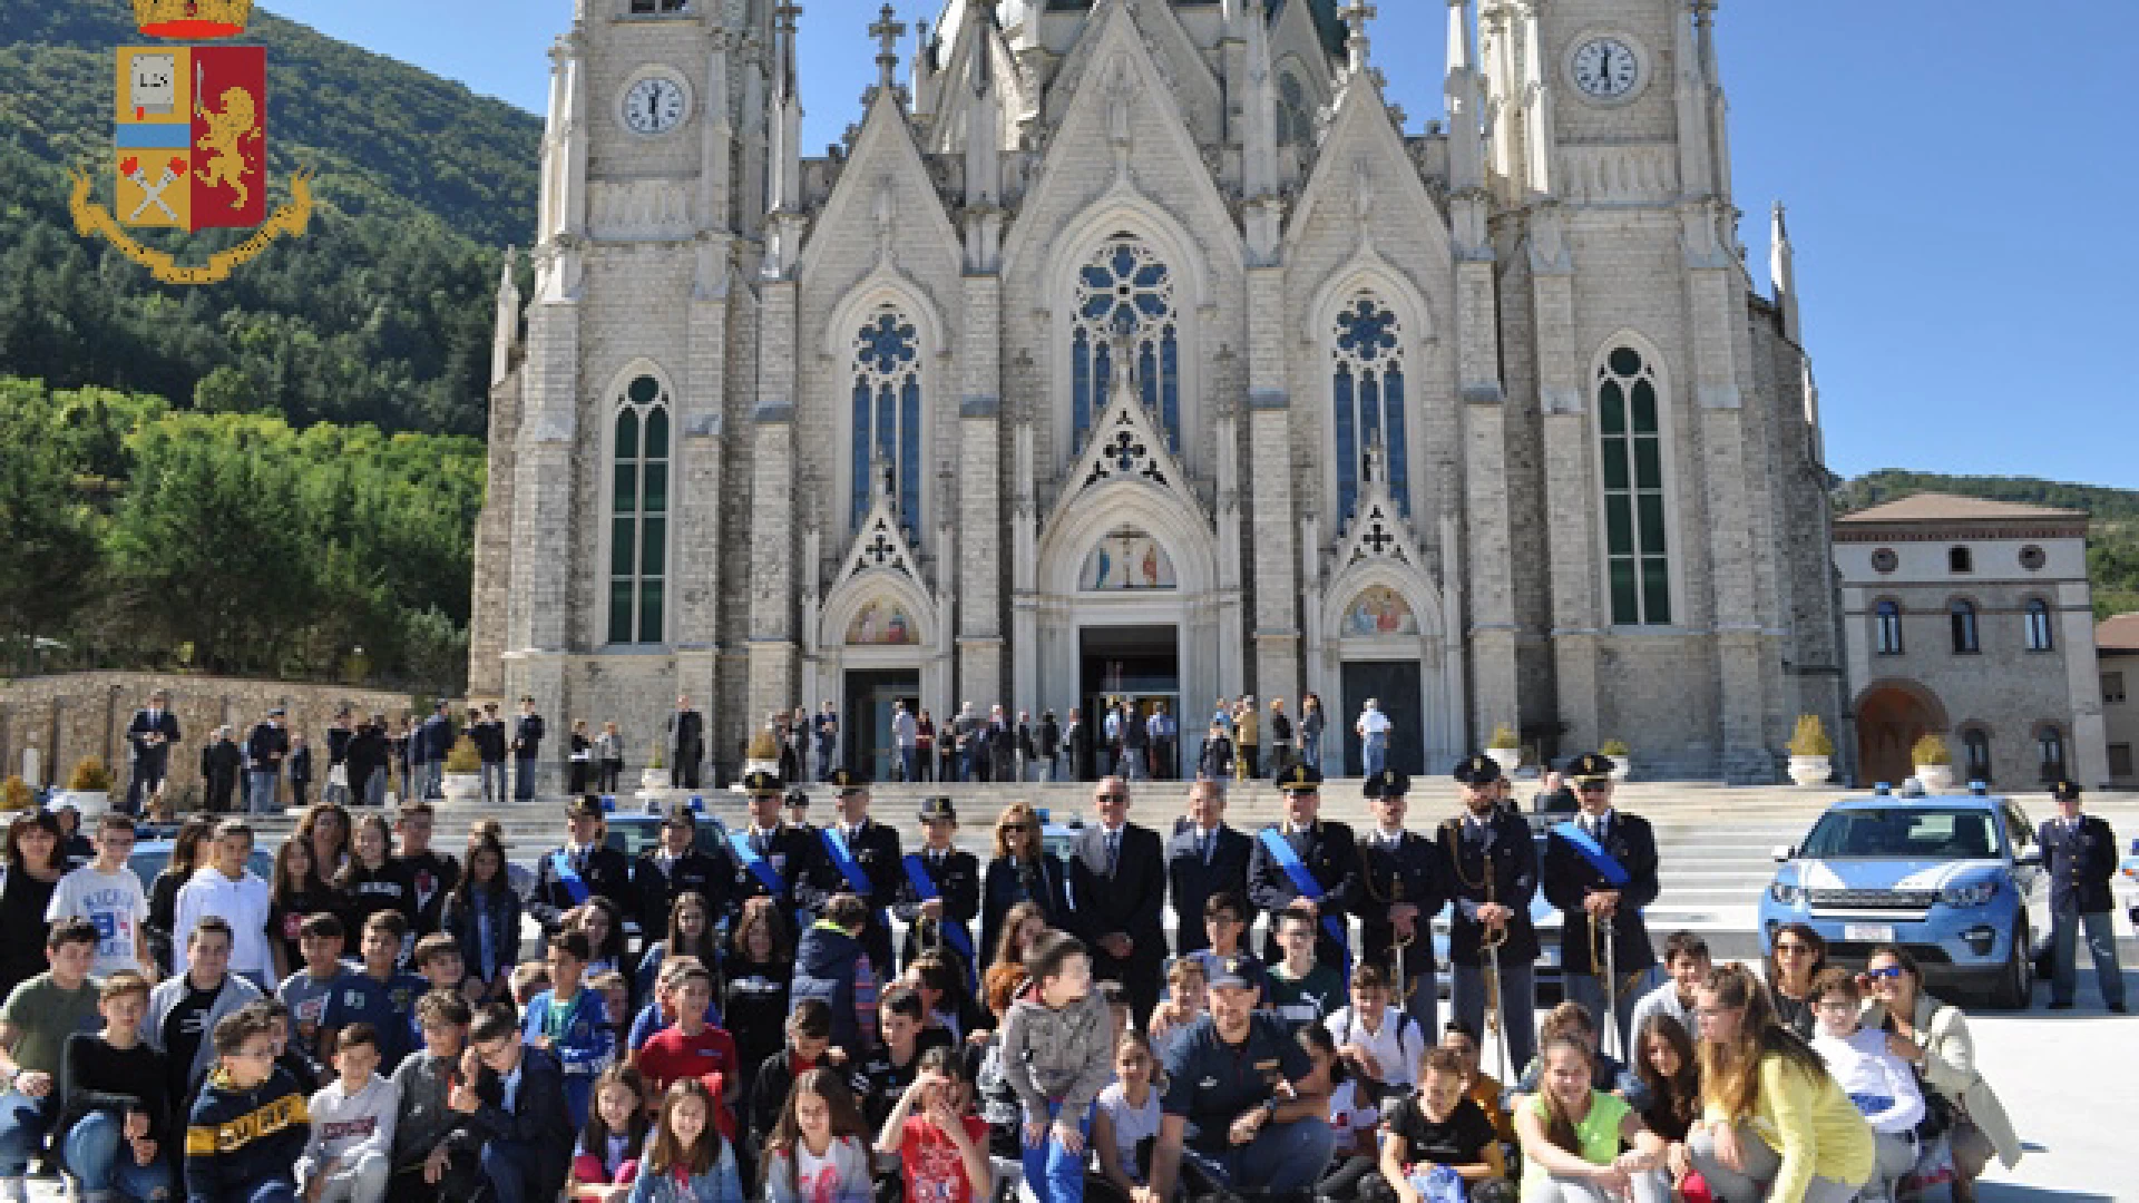
[{"label": "child in grey jacket and blue jeans standing in front row centre", "polygon": [[1003,1019],[1003,1075],[1025,1111],[1025,1182],[1050,1203],[1078,1203],[1091,1109],[1114,1072],[1114,1019],[1076,935],[1044,931],[1025,972],[1031,985]]}]

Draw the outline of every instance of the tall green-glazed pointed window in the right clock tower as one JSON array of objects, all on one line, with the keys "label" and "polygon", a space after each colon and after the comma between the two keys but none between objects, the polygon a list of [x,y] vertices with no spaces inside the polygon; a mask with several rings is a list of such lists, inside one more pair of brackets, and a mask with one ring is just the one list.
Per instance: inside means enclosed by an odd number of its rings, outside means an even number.
[{"label": "tall green-glazed pointed window in the right clock tower", "polygon": [[1671,539],[1656,366],[1619,347],[1598,368],[1604,563],[1613,625],[1671,623]]}]

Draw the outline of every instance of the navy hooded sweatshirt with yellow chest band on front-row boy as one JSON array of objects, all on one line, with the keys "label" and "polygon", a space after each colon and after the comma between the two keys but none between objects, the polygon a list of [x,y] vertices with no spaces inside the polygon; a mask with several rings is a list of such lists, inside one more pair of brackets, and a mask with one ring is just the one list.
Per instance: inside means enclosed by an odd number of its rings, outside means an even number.
[{"label": "navy hooded sweatshirt with yellow chest band on front-row boy", "polygon": [[244,1203],[265,1182],[295,1188],[297,1158],[310,1139],[304,1092],[287,1072],[237,1090],[218,1068],[201,1085],[186,1124],[188,1203]]}]

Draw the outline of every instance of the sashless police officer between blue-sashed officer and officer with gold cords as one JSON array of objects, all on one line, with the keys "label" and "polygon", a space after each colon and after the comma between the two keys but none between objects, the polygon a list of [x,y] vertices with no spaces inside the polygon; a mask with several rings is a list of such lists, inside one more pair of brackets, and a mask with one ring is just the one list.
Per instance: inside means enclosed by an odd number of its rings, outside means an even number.
[{"label": "sashless police officer between blue-sashed officer and officer with gold cords", "polygon": [[[1363,794],[1373,813],[1373,831],[1358,837],[1363,957],[1388,965],[1403,1010],[1418,1021],[1420,1032],[1440,1032],[1435,1023],[1437,983],[1433,976],[1433,916],[1448,901],[1448,869],[1440,863],[1440,846],[1403,828],[1405,794],[1412,777],[1384,768],[1367,777]],[[1397,972],[1397,948],[1403,948],[1403,972]]]}]

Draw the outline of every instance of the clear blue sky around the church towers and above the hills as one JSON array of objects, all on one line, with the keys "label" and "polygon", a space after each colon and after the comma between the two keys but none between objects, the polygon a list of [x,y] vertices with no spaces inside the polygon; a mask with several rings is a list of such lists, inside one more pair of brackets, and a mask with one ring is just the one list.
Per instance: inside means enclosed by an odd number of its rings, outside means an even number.
[{"label": "clear blue sky around the church towers and above the hills", "polygon": [[[599,0],[597,0],[599,2]],[[881,0],[804,0],[804,146],[875,79]],[[935,19],[937,0],[894,0]],[[539,111],[571,0],[265,0]],[[1442,116],[1446,9],[1382,0],[1375,62]],[[1754,278],[1790,208],[1829,465],[2139,488],[2139,83],[2128,0],[1726,0],[1718,17]],[[911,36],[909,36],[911,45]]]}]

